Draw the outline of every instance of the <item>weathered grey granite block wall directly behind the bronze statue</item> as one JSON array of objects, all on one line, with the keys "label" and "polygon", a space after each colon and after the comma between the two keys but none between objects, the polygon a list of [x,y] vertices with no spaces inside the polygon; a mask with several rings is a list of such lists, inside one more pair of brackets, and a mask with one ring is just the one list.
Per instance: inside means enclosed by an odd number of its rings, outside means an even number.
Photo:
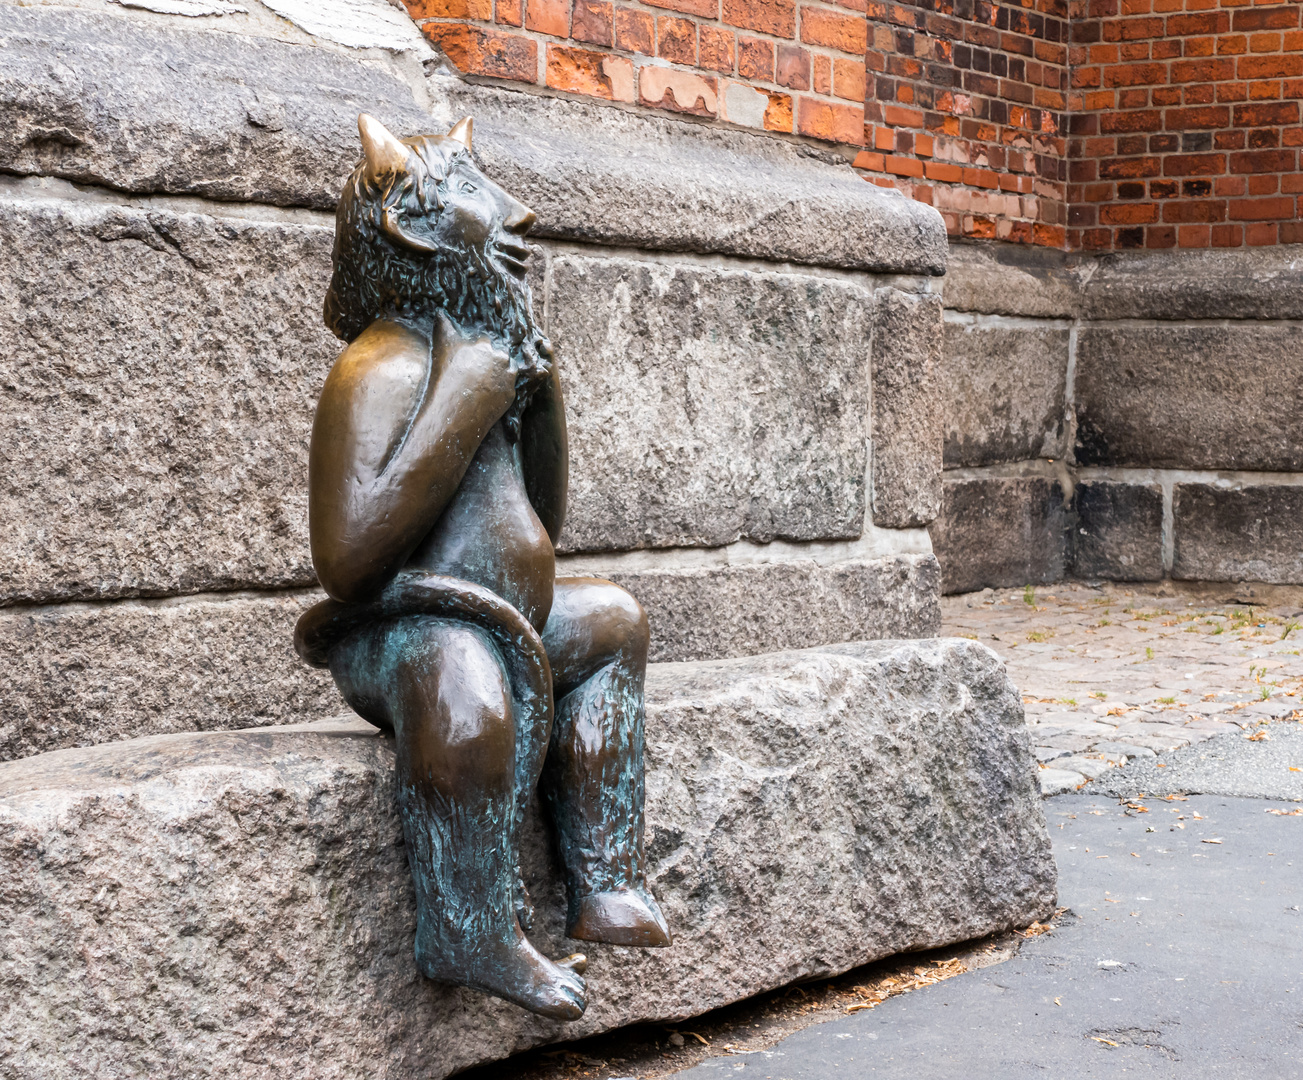
[{"label": "weathered grey granite block wall directly behind the bronze statue", "polygon": [[473,115],[538,212],[562,568],[641,597],[654,661],[936,632],[937,215],[792,145],[469,86],[409,29],[0,3],[0,757],[343,709],[289,632],[364,109]]}]

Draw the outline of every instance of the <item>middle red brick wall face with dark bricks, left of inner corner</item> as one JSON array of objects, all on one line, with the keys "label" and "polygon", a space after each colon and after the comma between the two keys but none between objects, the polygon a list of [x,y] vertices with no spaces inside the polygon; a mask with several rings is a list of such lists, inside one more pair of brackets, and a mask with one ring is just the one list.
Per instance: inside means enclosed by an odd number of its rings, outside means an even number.
[{"label": "middle red brick wall face with dark bricks, left of inner corner", "polygon": [[873,4],[855,164],[954,236],[1062,246],[1067,14],[1067,0]]}]

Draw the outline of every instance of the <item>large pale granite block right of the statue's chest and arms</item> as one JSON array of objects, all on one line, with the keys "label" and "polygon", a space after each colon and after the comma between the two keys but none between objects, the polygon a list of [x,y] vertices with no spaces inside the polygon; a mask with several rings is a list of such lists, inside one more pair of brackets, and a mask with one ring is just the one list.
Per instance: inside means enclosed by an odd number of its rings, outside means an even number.
[{"label": "large pale granite block right of the statue's chest and arms", "polygon": [[830,277],[552,258],[560,550],[859,537],[873,297]]}]

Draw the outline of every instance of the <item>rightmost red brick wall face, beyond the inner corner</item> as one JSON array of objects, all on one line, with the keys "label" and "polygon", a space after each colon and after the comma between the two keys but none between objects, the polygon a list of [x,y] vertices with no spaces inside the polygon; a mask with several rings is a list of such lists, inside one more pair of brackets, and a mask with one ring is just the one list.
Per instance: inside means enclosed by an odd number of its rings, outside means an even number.
[{"label": "rightmost red brick wall face, beyond the inner corner", "polygon": [[1299,0],[1079,0],[1072,248],[1303,241]]}]

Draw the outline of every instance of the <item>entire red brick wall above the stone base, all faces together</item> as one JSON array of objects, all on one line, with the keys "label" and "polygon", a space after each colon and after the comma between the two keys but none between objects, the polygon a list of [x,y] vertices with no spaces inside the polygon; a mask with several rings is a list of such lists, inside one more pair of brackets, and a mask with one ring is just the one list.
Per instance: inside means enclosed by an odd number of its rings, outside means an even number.
[{"label": "entire red brick wall above the stone base, all faces together", "polygon": [[472,76],[840,143],[952,236],[1303,242],[1303,0],[404,3]]}]

